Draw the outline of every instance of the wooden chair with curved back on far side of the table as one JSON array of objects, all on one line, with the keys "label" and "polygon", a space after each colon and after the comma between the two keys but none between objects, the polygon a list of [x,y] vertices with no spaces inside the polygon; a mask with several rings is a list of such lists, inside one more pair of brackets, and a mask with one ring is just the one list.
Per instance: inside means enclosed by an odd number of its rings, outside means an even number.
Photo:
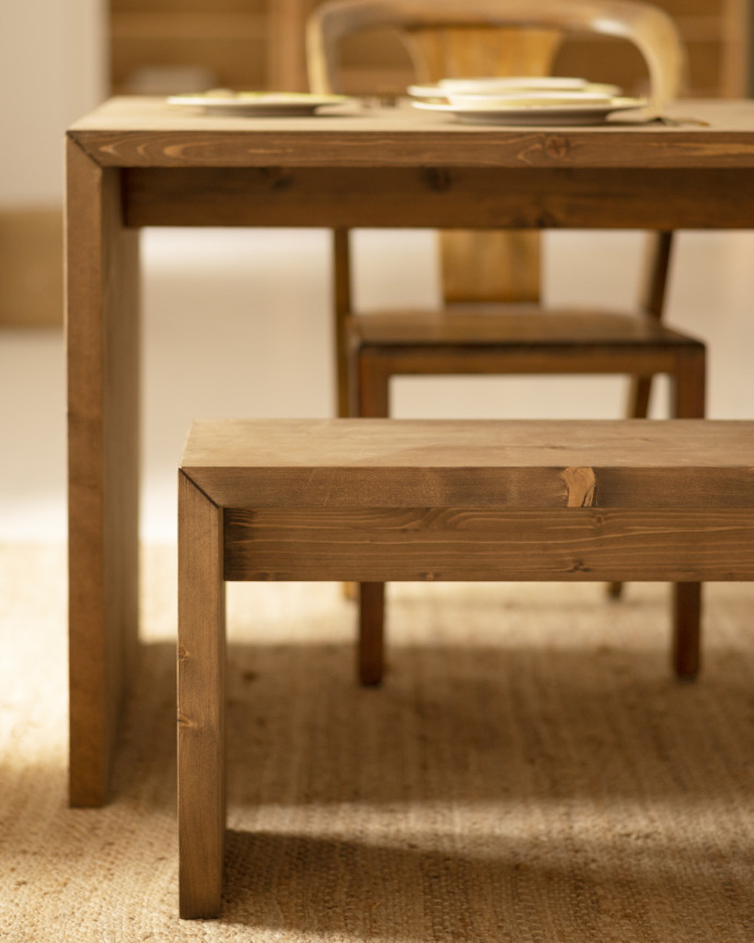
[{"label": "wooden chair with curved back on far side of the table", "polygon": [[[627,40],[646,64],[652,107],[677,96],[684,51],[670,17],[623,0],[331,0],[307,23],[312,90],[341,84],[344,39],[390,27],[405,40],[417,81],[470,75],[547,75],[569,33]],[[589,77],[589,76],[586,76]],[[440,233],[441,311],[356,314],[351,301],[350,233],[336,230],[335,336],[338,412],[389,415],[397,375],[625,374],[629,415],[647,415],[652,377],[673,383],[671,414],[704,415],[705,349],[661,323],[672,233],[648,233],[643,297],[635,312],[545,311],[539,305],[539,237],[532,231]],[[612,595],[620,584],[610,587]],[[361,587],[360,675],[382,675],[384,585]],[[676,670],[698,670],[701,587],[673,592]]]}]

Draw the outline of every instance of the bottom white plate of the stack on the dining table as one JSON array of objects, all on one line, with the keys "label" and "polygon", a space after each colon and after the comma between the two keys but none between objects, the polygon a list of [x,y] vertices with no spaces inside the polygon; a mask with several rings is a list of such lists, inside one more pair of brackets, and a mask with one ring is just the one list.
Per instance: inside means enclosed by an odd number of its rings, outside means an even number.
[{"label": "bottom white plate of the stack on the dining table", "polygon": [[591,101],[563,105],[556,101],[543,105],[542,99],[518,98],[503,102],[443,105],[436,101],[414,101],[414,108],[424,111],[442,111],[453,114],[459,121],[470,124],[601,124],[615,111],[645,108],[645,98],[611,98],[608,101]]}]

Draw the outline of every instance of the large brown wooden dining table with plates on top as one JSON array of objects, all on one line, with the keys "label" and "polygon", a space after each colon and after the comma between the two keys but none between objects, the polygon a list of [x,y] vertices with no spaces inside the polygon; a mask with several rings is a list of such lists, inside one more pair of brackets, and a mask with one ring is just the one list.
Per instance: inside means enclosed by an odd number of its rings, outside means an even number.
[{"label": "large brown wooden dining table with plates on top", "polygon": [[754,101],[545,126],[114,98],[69,129],[66,178],[70,801],[97,806],[138,652],[139,229],[752,229]]}]

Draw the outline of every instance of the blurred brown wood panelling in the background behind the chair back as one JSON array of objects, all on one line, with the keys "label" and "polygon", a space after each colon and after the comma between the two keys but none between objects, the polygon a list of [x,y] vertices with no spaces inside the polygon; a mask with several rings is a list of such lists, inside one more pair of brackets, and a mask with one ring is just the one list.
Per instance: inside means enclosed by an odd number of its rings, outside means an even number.
[{"label": "blurred brown wood panelling in the background behind the chair back", "polygon": [[[745,95],[747,0],[655,2],[676,17],[686,41],[689,95]],[[112,90],[304,89],[303,24],[316,3],[110,0]],[[410,78],[408,58],[393,36],[374,35],[352,43],[346,63],[354,93],[400,94]],[[625,76],[635,72],[635,61],[632,50],[621,43],[569,43],[558,71],[628,85]]]}]

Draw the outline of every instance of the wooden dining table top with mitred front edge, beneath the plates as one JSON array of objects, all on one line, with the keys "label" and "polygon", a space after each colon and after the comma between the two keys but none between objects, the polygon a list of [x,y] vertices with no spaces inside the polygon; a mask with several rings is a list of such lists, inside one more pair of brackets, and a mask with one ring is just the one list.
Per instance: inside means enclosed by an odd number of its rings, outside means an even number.
[{"label": "wooden dining table top with mitred front edge, beneath the plates", "polygon": [[754,100],[682,100],[678,121],[478,125],[358,104],[309,117],[204,114],[165,98],[106,101],[69,129],[102,167],[754,168]]}]

